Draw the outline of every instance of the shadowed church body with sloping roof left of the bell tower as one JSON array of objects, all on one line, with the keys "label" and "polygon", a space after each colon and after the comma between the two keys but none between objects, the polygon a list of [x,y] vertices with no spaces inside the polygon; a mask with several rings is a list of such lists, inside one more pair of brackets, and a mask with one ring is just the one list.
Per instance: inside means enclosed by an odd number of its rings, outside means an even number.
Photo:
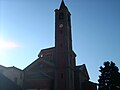
[{"label": "shadowed church body with sloping roof left of the bell tower", "polygon": [[38,57],[24,69],[24,88],[53,90],[54,47],[41,50]]}]

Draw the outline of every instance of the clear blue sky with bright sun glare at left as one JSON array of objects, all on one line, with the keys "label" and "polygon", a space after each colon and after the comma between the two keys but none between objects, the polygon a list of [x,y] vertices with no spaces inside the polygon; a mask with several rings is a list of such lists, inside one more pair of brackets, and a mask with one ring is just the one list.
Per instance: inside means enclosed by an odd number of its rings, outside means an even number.
[{"label": "clear blue sky with bright sun glare at left", "polygon": [[[113,61],[120,69],[120,0],[64,0],[71,13],[77,65],[90,81]],[[24,69],[41,49],[55,46],[55,13],[61,0],[0,0],[0,65]]]}]

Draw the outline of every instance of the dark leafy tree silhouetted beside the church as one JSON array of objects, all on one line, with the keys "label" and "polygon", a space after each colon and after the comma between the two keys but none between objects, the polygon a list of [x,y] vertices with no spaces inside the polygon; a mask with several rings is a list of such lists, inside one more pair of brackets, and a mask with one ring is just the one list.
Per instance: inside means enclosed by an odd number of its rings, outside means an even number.
[{"label": "dark leafy tree silhouetted beside the church", "polygon": [[120,90],[120,73],[115,63],[104,62],[99,71],[98,90]]}]

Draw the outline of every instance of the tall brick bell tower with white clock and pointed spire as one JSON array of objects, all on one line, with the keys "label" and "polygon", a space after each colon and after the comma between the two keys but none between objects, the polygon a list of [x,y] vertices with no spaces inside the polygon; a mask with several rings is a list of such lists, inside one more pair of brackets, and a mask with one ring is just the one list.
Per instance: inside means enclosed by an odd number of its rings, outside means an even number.
[{"label": "tall brick bell tower with white clock and pointed spire", "polygon": [[55,90],[74,90],[75,55],[72,50],[71,14],[62,0],[55,10]]}]

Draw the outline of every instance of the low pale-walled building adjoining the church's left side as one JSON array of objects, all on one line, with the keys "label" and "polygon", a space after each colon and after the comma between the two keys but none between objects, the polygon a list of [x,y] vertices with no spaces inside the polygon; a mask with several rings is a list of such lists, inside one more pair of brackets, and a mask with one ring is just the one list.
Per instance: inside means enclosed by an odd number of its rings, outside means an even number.
[{"label": "low pale-walled building adjoining the church's left side", "polygon": [[[5,79],[5,81],[11,81],[12,84],[18,86],[18,87],[23,87],[23,79],[24,79],[24,73],[22,70],[16,68],[16,67],[5,67],[0,65],[0,74],[1,74],[1,79],[2,77]],[[1,81],[0,84],[3,83],[4,80]],[[4,82],[5,84],[5,82]],[[12,85],[11,84],[11,85]],[[7,85],[7,84],[5,84]]]}]

